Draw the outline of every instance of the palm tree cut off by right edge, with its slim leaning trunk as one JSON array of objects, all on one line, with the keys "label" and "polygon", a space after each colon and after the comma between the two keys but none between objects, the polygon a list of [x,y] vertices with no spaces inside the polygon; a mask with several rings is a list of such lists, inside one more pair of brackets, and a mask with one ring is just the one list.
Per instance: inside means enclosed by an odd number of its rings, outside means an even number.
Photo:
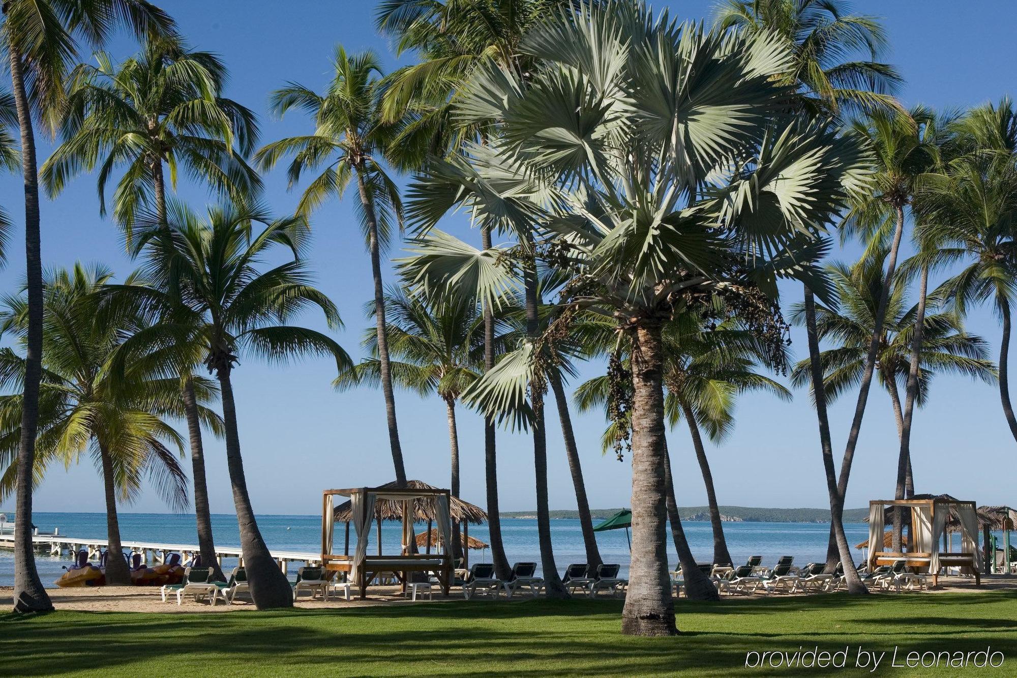
[{"label": "palm tree cut off by right edge, with its slim leaning trunk", "polygon": [[991,302],[1002,322],[999,357],[1000,400],[1017,440],[1017,416],[1010,400],[1010,333],[1015,299],[1017,244],[1017,113],[1013,102],[971,110],[957,123],[969,152],[949,163],[946,176],[932,182],[923,199],[929,214],[918,231],[943,259],[964,268],[933,294],[945,296],[958,313]]}]

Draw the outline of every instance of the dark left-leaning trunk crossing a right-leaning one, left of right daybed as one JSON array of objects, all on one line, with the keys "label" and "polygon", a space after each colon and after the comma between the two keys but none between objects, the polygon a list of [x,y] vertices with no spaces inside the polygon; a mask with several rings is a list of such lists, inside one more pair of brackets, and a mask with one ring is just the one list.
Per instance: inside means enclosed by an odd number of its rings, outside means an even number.
[{"label": "dark left-leaning trunk crossing a right-leaning one, left of right daybed", "polygon": [[[844,495],[837,486],[837,470],[833,463],[833,442],[830,438],[830,418],[827,416],[826,389],[823,385],[823,365],[820,362],[820,340],[816,330],[816,299],[813,290],[805,285],[805,333],[809,337],[809,362],[812,368],[813,397],[816,401],[816,418],[820,425],[820,447],[823,451],[823,470],[826,474],[827,492],[830,495],[830,528],[833,541],[837,544],[837,554],[844,567],[844,578],[847,580],[847,592],[863,595],[869,589],[858,578],[858,570],[854,567],[851,547],[844,533]],[[836,567],[827,558],[827,567]],[[829,572],[828,572],[829,573]]]}]

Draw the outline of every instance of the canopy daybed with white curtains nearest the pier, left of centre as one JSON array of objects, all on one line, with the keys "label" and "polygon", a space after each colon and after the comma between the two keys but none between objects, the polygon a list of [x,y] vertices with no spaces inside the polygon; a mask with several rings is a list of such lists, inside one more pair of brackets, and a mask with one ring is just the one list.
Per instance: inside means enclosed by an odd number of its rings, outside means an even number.
[{"label": "canopy daybed with white curtains nearest the pier, left of centre", "polygon": [[[352,554],[334,553],[336,527],[336,496],[349,497],[351,522],[357,534],[357,544]],[[403,548],[399,555],[367,555],[367,540],[377,515],[379,503],[395,505],[403,522]],[[360,598],[367,595],[367,583],[375,574],[393,572],[406,589],[406,582],[414,572],[431,573],[437,577],[441,589],[448,594],[453,577],[452,554],[415,554],[413,522],[418,504],[427,504],[433,509],[438,532],[442,543],[452,543],[452,519],[448,515],[450,492],[437,488],[353,488],[347,490],[325,490],[321,497],[321,564],[334,573],[346,572],[350,581],[360,588]],[[380,545],[381,523],[378,522],[378,544]]]}]

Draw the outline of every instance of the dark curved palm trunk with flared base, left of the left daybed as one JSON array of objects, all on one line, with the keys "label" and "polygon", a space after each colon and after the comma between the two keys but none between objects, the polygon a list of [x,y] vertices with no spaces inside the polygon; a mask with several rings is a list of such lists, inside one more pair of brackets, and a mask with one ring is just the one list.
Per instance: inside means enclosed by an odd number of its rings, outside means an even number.
[{"label": "dark curved palm trunk with flared base, left of the left daybed", "polygon": [[[227,358],[228,359],[228,358]],[[244,557],[244,570],[250,582],[251,598],[258,610],[292,608],[293,589],[279,564],[268,553],[254,518],[254,509],[247,494],[244,477],[244,460],[240,456],[240,434],[237,431],[237,409],[233,400],[230,365],[217,365],[223,397],[223,422],[226,426],[226,463],[233,488],[233,505],[240,526],[240,548]]]}]

